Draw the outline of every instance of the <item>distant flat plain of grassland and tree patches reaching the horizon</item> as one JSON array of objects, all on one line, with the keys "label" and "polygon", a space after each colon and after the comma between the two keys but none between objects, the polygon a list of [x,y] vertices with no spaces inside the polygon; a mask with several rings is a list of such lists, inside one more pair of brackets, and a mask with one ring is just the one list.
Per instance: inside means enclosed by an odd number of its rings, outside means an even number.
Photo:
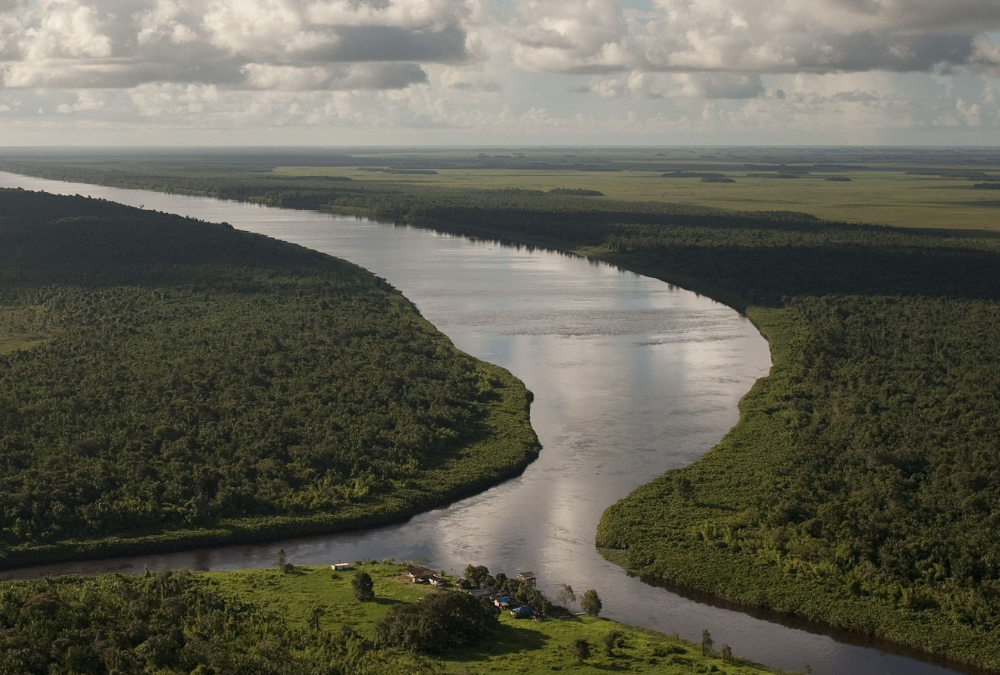
[{"label": "distant flat plain of grassland and tree patches reaching the horizon", "polygon": [[[593,202],[658,202],[736,211],[796,211],[834,222],[1000,228],[1000,153],[851,148],[524,148],[246,150],[149,156],[8,150],[0,167],[66,180],[173,190],[288,206],[365,208],[448,191],[593,190]],[[694,177],[663,177],[687,172]],[[734,182],[702,182],[704,174]],[[782,177],[786,176],[786,177]],[[787,178],[787,176],[792,176]],[[828,180],[849,178],[849,182]],[[316,192],[326,199],[313,201]],[[331,195],[361,194],[355,200]],[[353,202],[353,203],[350,203]],[[603,207],[615,210],[616,207]]]}]

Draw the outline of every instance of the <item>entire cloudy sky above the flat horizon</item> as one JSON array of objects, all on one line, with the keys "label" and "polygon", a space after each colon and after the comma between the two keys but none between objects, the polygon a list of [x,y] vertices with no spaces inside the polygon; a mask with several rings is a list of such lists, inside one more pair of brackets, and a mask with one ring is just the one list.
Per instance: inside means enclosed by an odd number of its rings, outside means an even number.
[{"label": "entire cloudy sky above the flat horizon", "polygon": [[1000,144],[1000,0],[0,0],[0,144]]}]

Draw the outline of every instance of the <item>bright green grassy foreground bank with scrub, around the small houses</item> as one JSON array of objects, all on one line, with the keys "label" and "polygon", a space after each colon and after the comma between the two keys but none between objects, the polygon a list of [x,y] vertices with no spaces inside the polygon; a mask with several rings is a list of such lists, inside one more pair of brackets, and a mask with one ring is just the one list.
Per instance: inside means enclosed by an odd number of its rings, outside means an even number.
[{"label": "bright green grassy foreground bank with scrub, around the small houses", "polygon": [[[432,591],[403,581],[399,565],[365,564],[211,574],[65,576],[0,584],[0,673],[47,673],[48,665],[81,675],[114,670],[174,673],[323,673],[423,675],[454,673],[725,673],[778,671],[701,646],[591,617],[535,621],[501,615],[476,644],[416,654],[377,644],[376,624],[393,607]],[[352,580],[365,572],[375,598],[355,598]],[[446,620],[446,617],[441,617]],[[82,621],[81,621],[82,620]],[[612,655],[608,633],[621,634]],[[578,661],[573,645],[587,640]],[[717,645],[721,650],[721,645]],[[62,671],[59,671],[62,672]]]}]

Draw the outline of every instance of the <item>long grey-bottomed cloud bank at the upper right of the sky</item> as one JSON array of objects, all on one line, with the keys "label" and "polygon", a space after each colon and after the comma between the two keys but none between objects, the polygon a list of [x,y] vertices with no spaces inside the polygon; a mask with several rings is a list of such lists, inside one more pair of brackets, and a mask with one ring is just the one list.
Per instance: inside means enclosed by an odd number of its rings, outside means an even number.
[{"label": "long grey-bottomed cloud bank at the upper right of the sky", "polygon": [[1000,29],[998,0],[651,0],[623,23],[617,0],[532,0],[514,56],[557,73],[931,72],[968,66]]}]

